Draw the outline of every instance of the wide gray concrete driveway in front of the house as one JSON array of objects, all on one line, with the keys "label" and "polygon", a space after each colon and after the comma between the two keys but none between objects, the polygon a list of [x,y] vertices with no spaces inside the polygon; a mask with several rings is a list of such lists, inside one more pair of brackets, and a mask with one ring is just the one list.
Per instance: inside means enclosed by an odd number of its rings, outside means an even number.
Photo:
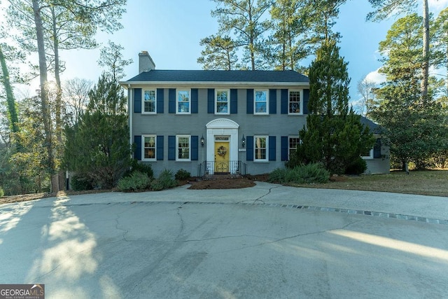
[{"label": "wide gray concrete driveway in front of the house", "polygon": [[0,284],[46,298],[443,298],[448,197],[291,188],[0,206]]}]

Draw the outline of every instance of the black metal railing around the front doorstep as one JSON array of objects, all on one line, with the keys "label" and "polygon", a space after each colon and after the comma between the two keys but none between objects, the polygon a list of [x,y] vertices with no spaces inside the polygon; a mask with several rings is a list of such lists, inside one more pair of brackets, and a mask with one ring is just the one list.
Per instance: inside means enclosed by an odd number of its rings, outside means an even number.
[{"label": "black metal railing around the front doorstep", "polygon": [[214,174],[232,174],[244,176],[247,173],[247,165],[241,161],[215,162],[204,161],[197,165],[197,176],[200,178],[213,178]]}]

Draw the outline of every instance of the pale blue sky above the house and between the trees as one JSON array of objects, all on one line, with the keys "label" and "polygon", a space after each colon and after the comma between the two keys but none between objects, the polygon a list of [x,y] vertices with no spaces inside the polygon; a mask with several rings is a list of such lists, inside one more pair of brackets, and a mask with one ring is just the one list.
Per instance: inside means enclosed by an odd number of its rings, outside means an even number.
[{"label": "pale blue sky above the house and between the trees", "polygon": [[[437,15],[448,6],[448,0],[429,0],[429,4],[430,12]],[[137,75],[141,50],[150,53],[156,69],[201,69],[197,64],[202,50],[199,42],[218,31],[218,22],[210,14],[214,8],[215,3],[210,0],[128,0],[127,13],[121,20],[124,29],[114,34],[100,33],[97,40],[106,44],[110,39],[120,44],[125,48],[124,57],[134,60],[125,69],[125,80]],[[378,43],[385,39],[387,30],[397,20],[365,22],[370,11],[367,0],[349,0],[340,8],[335,25],[335,31],[342,34],[340,53],[349,62],[352,101],[359,97],[358,81],[365,76],[379,80]],[[78,77],[96,82],[101,74],[97,67],[99,49],[65,51],[61,57],[66,62],[63,80]]]}]

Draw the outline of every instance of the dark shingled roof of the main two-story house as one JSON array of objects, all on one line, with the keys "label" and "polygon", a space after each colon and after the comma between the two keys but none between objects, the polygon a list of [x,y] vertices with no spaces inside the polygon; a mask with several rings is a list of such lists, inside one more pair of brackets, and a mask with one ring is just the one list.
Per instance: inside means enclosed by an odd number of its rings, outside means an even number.
[{"label": "dark shingled roof of the main two-story house", "polygon": [[144,71],[126,82],[309,83],[309,80],[307,76],[299,74],[297,71],[187,71],[153,69],[151,71]]}]

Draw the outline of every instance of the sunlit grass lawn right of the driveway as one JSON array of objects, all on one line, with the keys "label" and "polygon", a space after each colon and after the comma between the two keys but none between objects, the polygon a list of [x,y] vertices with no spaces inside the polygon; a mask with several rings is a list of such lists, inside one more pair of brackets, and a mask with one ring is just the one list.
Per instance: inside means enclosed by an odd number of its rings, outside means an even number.
[{"label": "sunlit grass lawn right of the driveway", "polygon": [[307,188],[329,188],[384,191],[448,197],[448,170],[424,170],[365,176],[341,176],[335,181],[312,185],[293,185]]}]

